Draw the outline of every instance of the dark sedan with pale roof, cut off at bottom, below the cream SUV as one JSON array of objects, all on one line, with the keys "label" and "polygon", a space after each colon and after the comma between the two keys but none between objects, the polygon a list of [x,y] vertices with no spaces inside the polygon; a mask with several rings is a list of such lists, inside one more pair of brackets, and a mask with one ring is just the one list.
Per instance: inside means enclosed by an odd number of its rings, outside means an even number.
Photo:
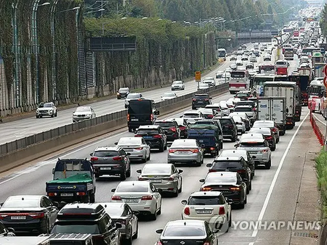
[{"label": "dark sedan with pale roof, cut off at bottom, below the cream SUV", "polygon": [[203,220],[174,220],[168,222],[164,229],[158,229],[155,232],[161,234],[157,245],[218,245],[218,237],[209,224]]}]

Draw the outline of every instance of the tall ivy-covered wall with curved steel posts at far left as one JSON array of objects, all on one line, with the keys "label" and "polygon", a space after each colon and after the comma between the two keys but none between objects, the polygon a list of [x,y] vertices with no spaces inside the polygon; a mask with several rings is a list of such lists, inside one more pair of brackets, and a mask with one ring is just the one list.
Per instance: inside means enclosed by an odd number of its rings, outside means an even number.
[{"label": "tall ivy-covered wall with curved steel posts at far left", "polygon": [[78,98],[82,10],[83,0],[0,0],[0,116]]}]

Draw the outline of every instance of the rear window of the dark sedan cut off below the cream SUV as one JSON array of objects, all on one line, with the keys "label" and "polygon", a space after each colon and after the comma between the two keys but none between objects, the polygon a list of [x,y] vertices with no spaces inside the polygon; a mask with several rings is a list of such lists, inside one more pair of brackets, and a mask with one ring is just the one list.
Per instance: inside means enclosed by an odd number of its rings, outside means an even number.
[{"label": "rear window of the dark sedan cut off below the cream SUV", "polygon": [[204,236],[205,232],[203,230],[203,227],[197,227],[197,226],[169,226],[165,229],[165,232],[163,234],[166,236]]}]

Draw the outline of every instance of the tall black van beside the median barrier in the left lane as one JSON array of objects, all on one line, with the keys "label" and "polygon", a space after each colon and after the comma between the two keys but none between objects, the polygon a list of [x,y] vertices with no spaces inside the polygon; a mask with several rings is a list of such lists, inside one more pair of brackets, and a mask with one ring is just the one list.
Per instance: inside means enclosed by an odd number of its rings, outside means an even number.
[{"label": "tall black van beside the median barrier in the left lane", "polygon": [[142,125],[153,125],[159,111],[152,100],[131,100],[127,110],[128,132]]}]

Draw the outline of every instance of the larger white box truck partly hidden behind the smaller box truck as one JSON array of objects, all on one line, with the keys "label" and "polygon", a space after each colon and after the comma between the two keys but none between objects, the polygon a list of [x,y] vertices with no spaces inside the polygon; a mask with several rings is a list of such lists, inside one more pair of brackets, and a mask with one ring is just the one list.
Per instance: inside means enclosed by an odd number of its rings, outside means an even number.
[{"label": "larger white box truck partly hidden behind the smaller box truck", "polygon": [[295,126],[296,82],[265,82],[265,97],[285,97],[286,129]]}]

